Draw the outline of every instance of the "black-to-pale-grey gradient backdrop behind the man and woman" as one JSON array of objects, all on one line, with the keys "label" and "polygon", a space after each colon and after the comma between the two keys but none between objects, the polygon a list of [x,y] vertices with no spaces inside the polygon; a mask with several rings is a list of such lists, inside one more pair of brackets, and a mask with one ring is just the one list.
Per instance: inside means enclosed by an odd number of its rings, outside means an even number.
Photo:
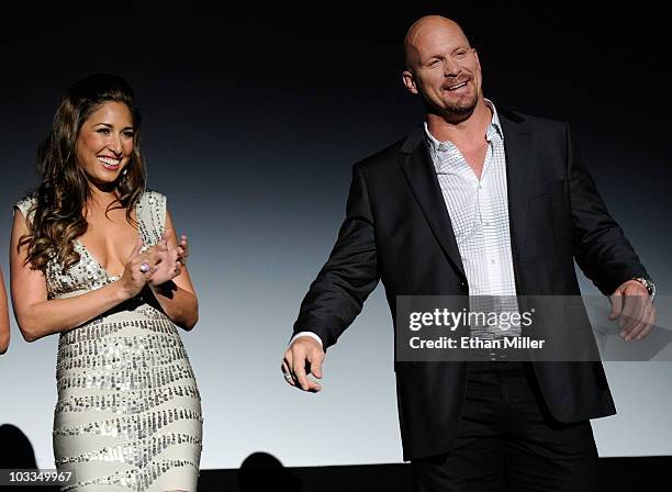
[{"label": "black-to-pale-grey gradient backdrop behind the man and woman", "polygon": [[[8,241],[11,204],[37,182],[36,145],[66,88],[112,71],[136,91],[148,186],[168,195],[192,245],[201,321],[184,340],[203,393],[204,468],[235,468],[254,450],[294,466],[401,460],[380,290],[329,351],[323,394],[284,388],[279,364],[343,219],[351,165],[422,122],[419,102],[401,83],[402,40],[422,14],[463,26],[497,108],[572,124],[609,210],[660,293],[670,291],[671,43],[660,8],[390,3],[26,4],[2,16],[0,227]],[[2,268],[7,276],[7,260]],[[0,423],[19,425],[48,467],[56,337],[27,345],[12,329],[0,384],[14,389],[16,403],[0,401]],[[603,456],[672,455],[660,432],[670,427],[669,369],[607,366],[620,413],[595,424]],[[298,433],[298,421],[317,426],[320,439]]]}]

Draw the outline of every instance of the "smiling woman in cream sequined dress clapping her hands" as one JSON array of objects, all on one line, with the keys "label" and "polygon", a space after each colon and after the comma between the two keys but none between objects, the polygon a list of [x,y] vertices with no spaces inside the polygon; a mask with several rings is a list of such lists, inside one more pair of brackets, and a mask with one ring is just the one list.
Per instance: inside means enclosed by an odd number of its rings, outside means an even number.
[{"label": "smiling woman in cream sequined dress clapping her hands", "polygon": [[63,490],[195,491],[201,404],[177,326],[198,300],[163,194],[145,189],[132,89],[77,81],[15,206],[11,291],[26,340],[59,334],[54,417]]}]

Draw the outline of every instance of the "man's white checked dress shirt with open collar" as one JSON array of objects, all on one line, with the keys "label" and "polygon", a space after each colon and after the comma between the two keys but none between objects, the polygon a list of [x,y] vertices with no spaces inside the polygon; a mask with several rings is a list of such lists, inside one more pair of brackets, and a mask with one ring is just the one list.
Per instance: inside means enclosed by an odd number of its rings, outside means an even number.
[{"label": "man's white checked dress shirt with open collar", "polygon": [[[492,110],[492,121],[485,134],[488,152],[480,179],[455,144],[437,141],[427,123],[425,133],[469,282],[469,295],[496,297],[472,298],[471,310],[515,312],[504,133],[494,105],[490,101],[488,105]],[[472,333],[481,331],[472,326]],[[511,328],[502,333],[497,329],[479,336],[515,335],[518,331]]]}]

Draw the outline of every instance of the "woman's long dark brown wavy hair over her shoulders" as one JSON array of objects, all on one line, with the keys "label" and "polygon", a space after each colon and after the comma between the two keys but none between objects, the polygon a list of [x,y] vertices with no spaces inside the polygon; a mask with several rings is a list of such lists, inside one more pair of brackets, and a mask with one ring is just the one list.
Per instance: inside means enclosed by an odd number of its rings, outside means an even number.
[{"label": "woman's long dark brown wavy hair over her shoulders", "polygon": [[[126,220],[145,188],[145,163],[139,145],[141,113],[131,86],[112,74],[96,74],[76,81],[65,93],[49,134],[37,148],[42,183],[33,193],[36,203],[27,226],[30,233],[19,239],[19,249],[27,245],[26,264],[44,271],[55,258],[66,268],[79,261],[74,241],[87,232],[83,206],[91,198],[91,185],[77,161],[75,145],[82,124],[104,102],[126,104],[133,118],[133,154],[114,183],[116,200],[110,210],[126,209]],[[30,213],[29,213],[30,215]],[[27,217],[26,217],[27,221]]]}]

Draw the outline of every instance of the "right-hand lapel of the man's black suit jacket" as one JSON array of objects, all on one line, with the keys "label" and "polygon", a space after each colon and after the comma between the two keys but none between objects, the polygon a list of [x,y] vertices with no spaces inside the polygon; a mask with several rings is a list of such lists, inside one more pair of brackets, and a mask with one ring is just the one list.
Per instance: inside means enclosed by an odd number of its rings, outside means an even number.
[{"label": "right-hand lapel of the man's black suit jacket", "polygon": [[516,114],[499,112],[506,154],[508,223],[514,258],[525,244],[534,154],[529,124]]}]

